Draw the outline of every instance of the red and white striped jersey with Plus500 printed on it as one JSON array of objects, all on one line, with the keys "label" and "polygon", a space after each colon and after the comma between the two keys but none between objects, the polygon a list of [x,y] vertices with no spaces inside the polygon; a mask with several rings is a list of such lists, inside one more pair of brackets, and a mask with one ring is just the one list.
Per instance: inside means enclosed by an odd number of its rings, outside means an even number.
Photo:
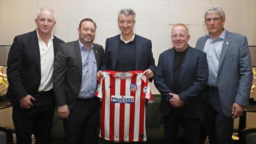
[{"label": "red and white striped jersey with Plus500 printed on it", "polygon": [[145,100],[152,102],[142,71],[104,71],[96,96],[102,98],[100,137],[109,141],[146,141]]}]

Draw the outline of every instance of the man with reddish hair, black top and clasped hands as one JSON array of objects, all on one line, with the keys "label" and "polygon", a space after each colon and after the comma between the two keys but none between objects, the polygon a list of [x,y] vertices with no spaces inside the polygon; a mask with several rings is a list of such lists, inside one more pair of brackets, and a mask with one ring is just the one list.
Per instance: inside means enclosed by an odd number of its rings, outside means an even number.
[{"label": "man with reddish hair, black top and clasped hands", "polygon": [[176,144],[180,123],[188,144],[200,143],[200,117],[204,115],[203,98],[208,80],[206,53],[188,45],[190,35],[184,24],[172,28],[174,48],[160,54],[154,84],[162,94],[166,144]]}]

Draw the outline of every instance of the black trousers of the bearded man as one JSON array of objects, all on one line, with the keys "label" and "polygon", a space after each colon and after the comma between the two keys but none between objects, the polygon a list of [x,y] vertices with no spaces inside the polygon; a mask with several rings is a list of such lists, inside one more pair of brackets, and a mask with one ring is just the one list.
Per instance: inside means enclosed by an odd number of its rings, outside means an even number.
[{"label": "black trousers of the bearded man", "polygon": [[77,100],[68,119],[63,120],[66,144],[96,144],[99,126],[99,99]]}]

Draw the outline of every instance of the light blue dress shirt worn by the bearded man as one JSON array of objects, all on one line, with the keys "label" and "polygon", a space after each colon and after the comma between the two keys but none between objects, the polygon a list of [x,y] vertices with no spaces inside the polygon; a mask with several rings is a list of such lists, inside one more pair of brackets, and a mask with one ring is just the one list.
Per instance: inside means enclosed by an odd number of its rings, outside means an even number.
[{"label": "light blue dress shirt worn by the bearded man", "polygon": [[82,57],[82,84],[78,98],[92,98],[95,96],[98,86],[98,81],[96,80],[97,64],[93,44],[90,49],[87,50],[79,40],[78,43]]}]

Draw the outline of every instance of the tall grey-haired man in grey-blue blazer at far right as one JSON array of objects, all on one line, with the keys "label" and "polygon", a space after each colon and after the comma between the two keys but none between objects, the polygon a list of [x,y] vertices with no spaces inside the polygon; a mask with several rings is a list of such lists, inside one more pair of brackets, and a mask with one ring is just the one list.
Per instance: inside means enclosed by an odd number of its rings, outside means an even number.
[{"label": "tall grey-haired man in grey-blue blazer at far right", "polygon": [[220,6],[206,8],[209,33],[196,43],[197,49],[206,52],[209,66],[205,124],[210,144],[232,144],[234,119],[248,106],[252,86],[247,39],[224,29],[225,20]]}]

